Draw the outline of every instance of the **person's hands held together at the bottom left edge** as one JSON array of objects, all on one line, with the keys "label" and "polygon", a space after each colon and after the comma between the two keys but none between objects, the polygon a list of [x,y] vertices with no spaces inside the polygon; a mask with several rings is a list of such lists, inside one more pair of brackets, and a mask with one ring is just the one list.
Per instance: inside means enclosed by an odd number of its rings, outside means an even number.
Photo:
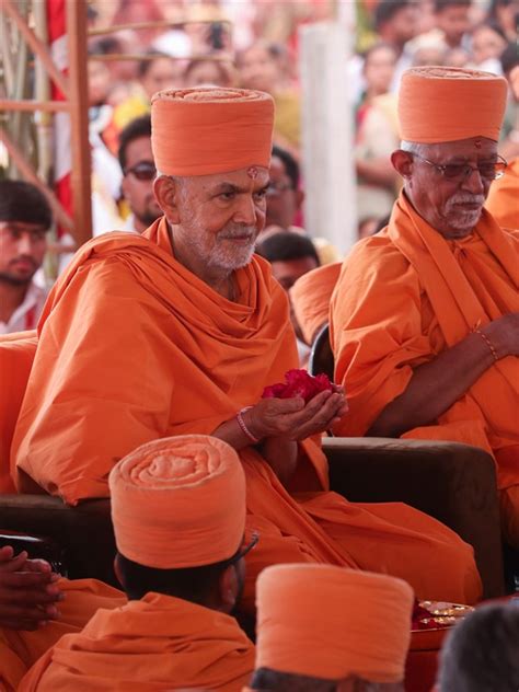
[{"label": "person's hands held together at the bottom left edge", "polygon": [[44,560],[28,560],[22,551],[0,549],[0,626],[37,630],[59,612],[55,606],[64,595],[55,584],[59,575]]}]

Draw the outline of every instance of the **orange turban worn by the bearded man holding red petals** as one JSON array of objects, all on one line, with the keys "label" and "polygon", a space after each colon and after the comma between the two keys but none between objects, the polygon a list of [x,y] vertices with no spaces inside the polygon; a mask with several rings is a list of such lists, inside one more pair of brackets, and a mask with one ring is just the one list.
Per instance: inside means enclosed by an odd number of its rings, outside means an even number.
[{"label": "orange turban worn by the bearded man holding red petals", "polygon": [[151,99],[151,146],[166,175],[270,165],[274,101],[262,91],[178,89]]}]

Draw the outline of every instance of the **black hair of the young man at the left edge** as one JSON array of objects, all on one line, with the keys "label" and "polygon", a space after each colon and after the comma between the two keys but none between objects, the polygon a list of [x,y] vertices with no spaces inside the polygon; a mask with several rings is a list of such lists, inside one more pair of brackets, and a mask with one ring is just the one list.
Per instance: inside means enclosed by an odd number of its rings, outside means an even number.
[{"label": "black hair of the young man at the left edge", "polygon": [[53,212],[45,195],[32,183],[0,180],[0,221],[36,223],[47,231]]}]

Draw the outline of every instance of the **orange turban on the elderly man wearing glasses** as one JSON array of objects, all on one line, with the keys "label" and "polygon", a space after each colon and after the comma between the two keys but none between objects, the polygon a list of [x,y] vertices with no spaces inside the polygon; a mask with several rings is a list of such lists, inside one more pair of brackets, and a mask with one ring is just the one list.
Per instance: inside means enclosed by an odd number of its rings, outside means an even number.
[{"label": "orange turban on the elderly man wearing glasses", "polygon": [[506,79],[452,67],[415,67],[402,77],[400,135],[435,143],[487,137],[497,141],[505,115]]}]

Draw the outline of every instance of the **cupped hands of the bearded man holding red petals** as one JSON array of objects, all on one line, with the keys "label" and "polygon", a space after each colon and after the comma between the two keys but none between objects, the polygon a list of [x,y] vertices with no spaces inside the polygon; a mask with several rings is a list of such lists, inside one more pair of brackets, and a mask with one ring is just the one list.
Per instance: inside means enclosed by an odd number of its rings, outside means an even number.
[{"label": "cupped hands of the bearded man holding red petals", "polygon": [[243,414],[245,424],[258,439],[280,437],[303,440],[324,432],[347,412],[343,389],[316,394],[308,404],[293,399],[262,399]]}]

